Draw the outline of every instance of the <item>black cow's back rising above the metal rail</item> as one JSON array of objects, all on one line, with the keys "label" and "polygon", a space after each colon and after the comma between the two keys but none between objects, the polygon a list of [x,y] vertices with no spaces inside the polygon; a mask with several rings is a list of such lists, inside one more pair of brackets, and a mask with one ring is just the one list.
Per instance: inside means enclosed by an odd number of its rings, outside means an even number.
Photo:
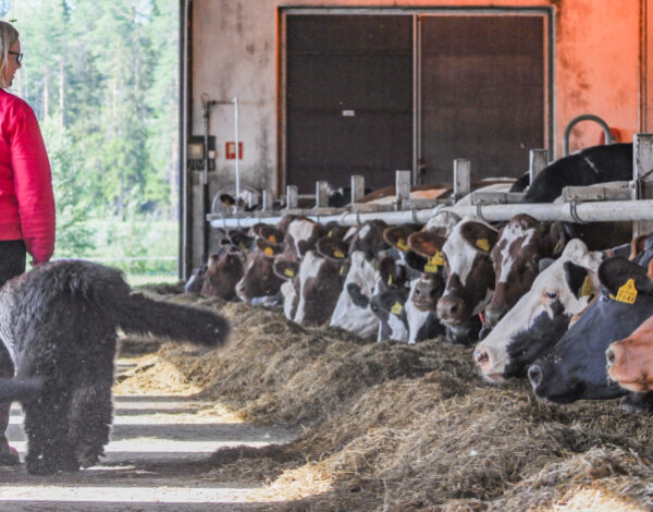
[{"label": "black cow's back rising above the metal rail", "polygon": [[593,146],[559,158],[542,169],[523,203],[552,203],[565,186],[632,180],[632,144]]}]

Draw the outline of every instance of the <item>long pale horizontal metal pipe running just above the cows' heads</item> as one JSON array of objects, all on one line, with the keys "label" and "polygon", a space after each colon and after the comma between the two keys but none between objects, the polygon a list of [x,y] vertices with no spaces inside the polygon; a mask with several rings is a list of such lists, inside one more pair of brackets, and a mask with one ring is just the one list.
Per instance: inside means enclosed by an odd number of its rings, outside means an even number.
[{"label": "long pale horizontal metal pipe running just above the cows' heads", "polygon": [[[303,215],[319,222],[337,221],[341,225],[358,225],[368,220],[384,220],[389,224],[406,222],[426,223],[440,211],[452,211],[460,217],[480,217],[489,222],[505,222],[518,214],[528,214],[541,221],[564,222],[612,222],[653,220],[653,199],[645,200],[602,200],[588,203],[537,203],[471,206],[438,206],[435,208],[404,211],[344,212],[340,215],[315,215],[310,210]],[[244,228],[257,222],[276,223],[280,216],[256,216],[243,218],[214,218],[214,228]]]}]

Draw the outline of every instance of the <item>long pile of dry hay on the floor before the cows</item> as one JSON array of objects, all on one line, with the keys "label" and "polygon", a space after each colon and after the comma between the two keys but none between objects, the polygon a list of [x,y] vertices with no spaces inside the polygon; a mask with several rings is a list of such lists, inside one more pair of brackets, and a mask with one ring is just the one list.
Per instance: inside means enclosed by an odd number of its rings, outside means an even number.
[{"label": "long pile of dry hay on the floor before the cows", "polygon": [[370,343],[279,310],[177,300],[221,308],[231,342],[164,344],[137,374],[172,365],[247,420],[303,424],[287,446],[213,460],[215,478],[256,475],[275,510],[653,509],[651,418],[616,401],[556,406],[525,382],[485,385],[471,349],[442,339]]}]

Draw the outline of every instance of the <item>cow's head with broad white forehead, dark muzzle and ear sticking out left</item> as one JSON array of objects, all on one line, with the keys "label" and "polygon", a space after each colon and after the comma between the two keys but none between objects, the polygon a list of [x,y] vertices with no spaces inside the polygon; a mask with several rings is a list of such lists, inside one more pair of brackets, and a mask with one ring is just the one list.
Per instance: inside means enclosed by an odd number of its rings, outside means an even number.
[{"label": "cow's head with broad white forehead, dark muzzle and ear sticking out left", "polygon": [[478,340],[479,313],[494,290],[490,253],[497,236],[496,229],[481,219],[465,218],[446,239],[433,231],[419,231],[408,237],[408,245],[416,253],[426,257],[442,255],[446,285],[438,301],[436,314],[452,342]]}]

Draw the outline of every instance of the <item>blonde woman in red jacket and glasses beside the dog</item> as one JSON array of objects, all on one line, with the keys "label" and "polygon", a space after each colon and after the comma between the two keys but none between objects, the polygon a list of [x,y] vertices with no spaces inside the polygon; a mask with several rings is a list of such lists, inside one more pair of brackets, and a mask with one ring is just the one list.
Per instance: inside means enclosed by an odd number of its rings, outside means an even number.
[{"label": "blonde woman in red jacket and glasses beside the dog", "polygon": [[[32,108],[8,93],[23,53],[19,32],[0,21],[0,285],[54,252],[54,197],[46,146]],[[1,336],[1,333],[0,333]],[[0,377],[14,366],[0,343]],[[4,436],[11,403],[0,404],[0,465],[20,463]]]}]

